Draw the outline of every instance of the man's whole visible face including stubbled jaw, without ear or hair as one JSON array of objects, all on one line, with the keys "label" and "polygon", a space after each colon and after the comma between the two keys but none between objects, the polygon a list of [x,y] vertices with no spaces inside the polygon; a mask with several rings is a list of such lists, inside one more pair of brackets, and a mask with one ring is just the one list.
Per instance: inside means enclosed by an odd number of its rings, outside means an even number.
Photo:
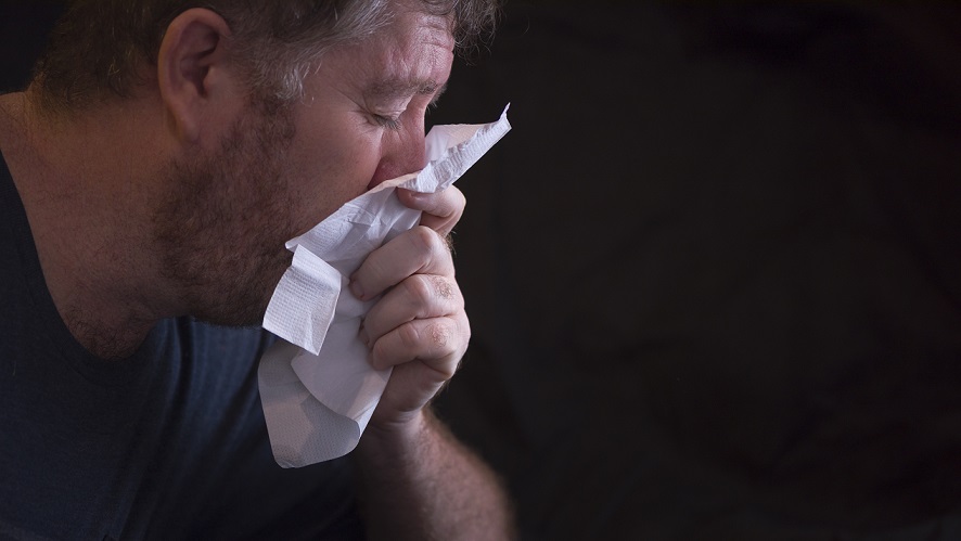
[{"label": "man's whole visible face including stubbled jaw, without ear or hair", "polygon": [[191,314],[259,324],[289,239],[424,166],[424,114],[452,50],[446,18],[400,11],[377,36],[326,53],[303,100],[252,104],[217,151],[171,166],[155,223],[165,278]]}]

